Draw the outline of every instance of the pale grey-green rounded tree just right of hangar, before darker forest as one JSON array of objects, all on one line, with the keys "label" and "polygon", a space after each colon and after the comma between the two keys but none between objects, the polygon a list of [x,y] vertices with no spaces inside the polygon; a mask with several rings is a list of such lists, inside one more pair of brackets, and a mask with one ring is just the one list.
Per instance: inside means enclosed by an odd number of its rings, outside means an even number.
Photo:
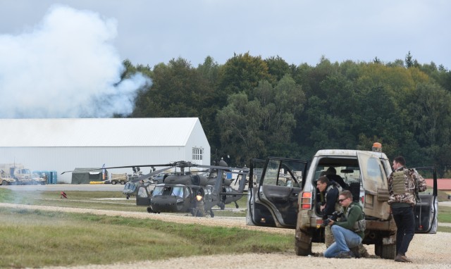
[{"label": "pale grey-green rounded tree just right of hangar, before darker forest", "polygon": [[[235,162],[264,158],[292,148],[295,115],[304,109],[304,92],[290,75],[272,87],[261,81],[252,96],[233,94],[218,111],[223,151],[233,151]],[[242,154],[239,156],[239,154]]]}]

